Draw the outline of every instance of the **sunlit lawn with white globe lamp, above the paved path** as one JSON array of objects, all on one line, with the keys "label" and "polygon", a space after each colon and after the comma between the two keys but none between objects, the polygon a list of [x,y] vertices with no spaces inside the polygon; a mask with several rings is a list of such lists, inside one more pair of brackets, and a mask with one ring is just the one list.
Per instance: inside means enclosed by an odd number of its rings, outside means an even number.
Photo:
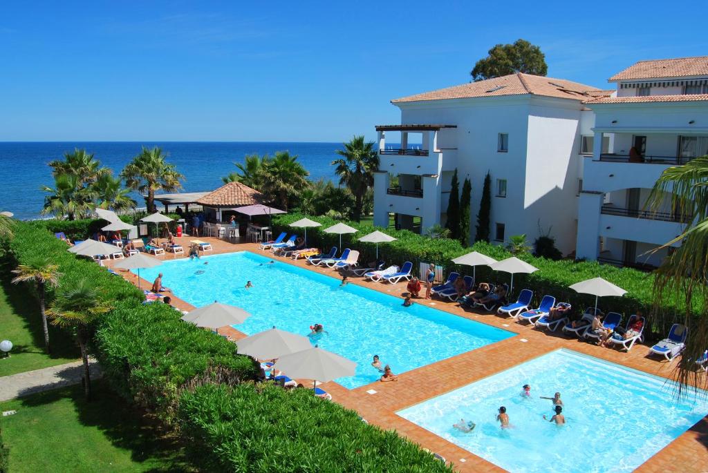
[{"label": "sunlit lawn with white globe lamp, above the paved path", "polygon": [[42,319],[37,301],[27,288],[0,280],[0,340],[9,340],[9,358],[0,358],[0,376],[69,363],[79,358],[70,334],[50,326],[52,354],[44,350]]}]

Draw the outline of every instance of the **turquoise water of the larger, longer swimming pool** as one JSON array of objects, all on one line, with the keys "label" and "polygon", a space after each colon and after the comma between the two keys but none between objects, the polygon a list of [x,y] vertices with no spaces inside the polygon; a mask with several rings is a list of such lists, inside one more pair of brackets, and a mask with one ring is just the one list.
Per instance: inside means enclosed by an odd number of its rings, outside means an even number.
[{"label": "turquoise water of the larger, longer swimming pool", "polygon": [[[324,325],[329,334],[313,343],[358,363],[355,376],[337,380],[348,388],[380,377],[370,365],[375,354],[398,374],[513,336],[423,305],[404,308],[401,299],[372,289],[341,288],[339,279],[291,264],[259,266],[268,261],[238,252],[191,262],[177,259],[140,273],[148,280],[163,273],[163,284],[196,307],[218,300],[244,308],[252,315],[234,328],[245,334],[275,325],[306,335],[310,325]],[[253,288],[245,289],[246,281]]]}]

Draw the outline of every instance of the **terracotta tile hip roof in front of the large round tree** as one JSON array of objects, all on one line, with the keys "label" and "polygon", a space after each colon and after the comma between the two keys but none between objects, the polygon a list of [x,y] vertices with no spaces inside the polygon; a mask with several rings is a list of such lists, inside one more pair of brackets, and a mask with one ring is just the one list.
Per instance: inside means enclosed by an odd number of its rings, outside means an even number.
[{"label": "terracotta tile hip roof in front of the large round tree", "polygon": [[392,103],[422,102],[427,100],[448,100],[455,98],[498,97],[501,95],[543,95],[545,97],[586,100],[588,96],[610,95],[609,91],[586,86],[565,79],[532,76],[531,74],[510,74],[485,81],[464,83],[433,90],[431,92],[396,98]]}]

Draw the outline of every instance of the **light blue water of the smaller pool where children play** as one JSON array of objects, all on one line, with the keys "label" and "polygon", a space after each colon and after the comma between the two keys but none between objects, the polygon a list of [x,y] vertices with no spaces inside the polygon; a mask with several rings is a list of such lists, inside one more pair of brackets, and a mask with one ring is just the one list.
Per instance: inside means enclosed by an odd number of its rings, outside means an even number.
[{"label": "light blue water of the smaller pool where children play", "polygon": [[[542,418],[552,402],[539,396],[556,391],[566,426]],[[708,414],[706,392],[673,395],[661,378],[561,349],[397,414],[510,472],[631,472]],[[499,427],[500,406],[513,428]],[[460,419],[476,428],[452,428]]]}]

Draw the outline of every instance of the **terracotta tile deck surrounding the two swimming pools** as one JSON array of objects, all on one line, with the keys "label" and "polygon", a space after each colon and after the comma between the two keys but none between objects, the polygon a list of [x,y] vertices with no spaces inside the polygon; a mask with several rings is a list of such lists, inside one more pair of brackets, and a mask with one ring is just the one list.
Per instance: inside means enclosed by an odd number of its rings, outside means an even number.
[{"label": "terracotta tile deck surrounding the two swimming pools", "polygon": [[[183,237],[177,240],[186,248],[191,239],[190,237]],[[264,254],[261,250],[258,250],[258,245],[252,243],[232,244],[217,238],[200,239],[212,243],[214,247],[213,252],[207,252],[207,255],[244,250]],[[270,255],[270,253],[265,254]],[[174,259],[175,257],[175,255],[168,253],[159,258]],[[282,257],[275,257],[274,259],[322,274],[338,276],[336,271],[332,269],[312,267],[303,260],[295,261]],[[110,266],[110,263],[108,265]],[[127,273],[122,274],[133,284],[137,284],[137,276]],[[169,286],[169,281],[164,281],[164,283]],[[149,288],[150,284],[152,282],[142,281],[143,287]],[[372,283],[352,277],[350,278],[350,284],[358,284],[393,296],[401,296],[401,293],[406,291],[405,282],[390,285]],[[396,411],[469,383],[474,383],[476,380],[486,378],[489,375],[512,368],[560,348],[602,358],[612,363],[663,378],[670,378],[672,371],[675,369],[675,363],[673,362],[660,361],[661,358],[658,357],[649,358],[646,346],[635,345],[632,351],[625,353],[588,344],[577,339],[569,339],[562,334],[542,332],[497,315],[462,310],[455,303],[442,302],[440,300],[426,301],[423,299],[416,300],[416,303],[430,305],[430,307],[443,310],[450,313],[451,317],[465,317],[508,330],[517,335],[402,373],[396,383],[372,383],[353,390],[348,390],[333,382],[324,383],[322,387],[332,395],[334,402],[358,411],[370,424],[387,429],[396,429],[401,435],[445,457],[448,462],[452,462],[455,469],[459,472],[503,472],[505,470],[406,419],[396,416]],[[181,310],[193,309],[193,306],[179,299],[178,294],[173,296],[173,305]],[[232,339],[245,337],[245,334],[232,327],[224,327],[219,329],[219,332],[229,334]],[[705,376],[705,374],[702,376]],[[375,394],[369,394],[367,393],[368,390],[375,390],[376,392]],[[599,424],[598,427],[601,428]],[[643,473],[708,472],[708,417],[702,419],[682,436],[673,440],[666,448],[663,448],[635,471]]]}]

